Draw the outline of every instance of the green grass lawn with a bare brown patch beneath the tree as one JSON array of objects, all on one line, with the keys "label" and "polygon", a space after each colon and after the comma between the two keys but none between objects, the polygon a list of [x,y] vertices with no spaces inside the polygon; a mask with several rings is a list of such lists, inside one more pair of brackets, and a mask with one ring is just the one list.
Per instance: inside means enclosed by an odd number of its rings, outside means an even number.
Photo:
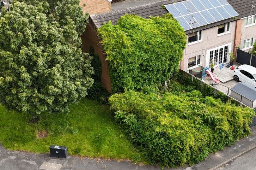
[{"label": "green grass lawn with a bare brown patch beneath the tree", "polygon": [[[5,148],[36,153],[48,153],[50,145],[63,145],[70,155],[114,159],[140,155],[108,110],[82,99],[68,114],[42,114],[39,122],[31,124],[30,115],[0,105],[0,141]],[[47,131],[48,136],[37,138],[38,131]]]}]

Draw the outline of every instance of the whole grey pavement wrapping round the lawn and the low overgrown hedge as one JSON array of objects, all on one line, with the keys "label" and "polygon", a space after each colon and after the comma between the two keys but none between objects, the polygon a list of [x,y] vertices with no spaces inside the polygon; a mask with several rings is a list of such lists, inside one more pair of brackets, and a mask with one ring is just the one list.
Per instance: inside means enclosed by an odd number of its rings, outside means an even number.
[{"label": "whole grey pavement wrapping round the lawn and the low overgrown hedge", "polygon": [[[251,128],[252,135],[243,138],[230,147],[215,154],[210,154],[204,161],[192,167],[180,167],[170,170],[217,170],[241,155],[245,155],[256,148],[256,127]],[[255,150],[255,149],[254,149]],[[254,156],[255,158],[255,156]],[[115,161],[107,159],[90,159],[68,156],[67,159],[52,158],[49,154],[34,154],[21,151],[9,151],[0,145],[0,170],[160,170],[158,165],[138,165],[131,161]],[[168,169],[168,168],[165,168]],[[243,168],[243,170],[249,170]],[[251,170],[251,169],[250,169]]]}]

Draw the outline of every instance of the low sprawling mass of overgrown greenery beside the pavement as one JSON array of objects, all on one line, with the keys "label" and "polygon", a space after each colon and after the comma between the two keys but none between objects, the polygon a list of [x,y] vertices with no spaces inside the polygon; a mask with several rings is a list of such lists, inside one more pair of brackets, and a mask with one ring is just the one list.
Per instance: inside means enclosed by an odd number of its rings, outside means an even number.
[{"label": "low sprawling mass of overgrown greenery beside the pavement", "polygon": [[224,149],[251,133],[254,116],[253,109],[204,98],[199,91],[162,97],[127,91],[114,94],[109,103],[116,120],[144,149],[149,162],[162,167],[194,164]]}]

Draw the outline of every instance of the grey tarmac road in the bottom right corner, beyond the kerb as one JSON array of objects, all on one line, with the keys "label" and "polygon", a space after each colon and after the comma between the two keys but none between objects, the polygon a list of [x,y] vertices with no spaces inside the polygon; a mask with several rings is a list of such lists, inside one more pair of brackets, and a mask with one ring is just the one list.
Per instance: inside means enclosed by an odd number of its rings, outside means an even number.
[{"label": "grey tarmac road in the bottom right corner, beyond the kerb", "polygon": [[218,170],[256,170],[256,148]]}]

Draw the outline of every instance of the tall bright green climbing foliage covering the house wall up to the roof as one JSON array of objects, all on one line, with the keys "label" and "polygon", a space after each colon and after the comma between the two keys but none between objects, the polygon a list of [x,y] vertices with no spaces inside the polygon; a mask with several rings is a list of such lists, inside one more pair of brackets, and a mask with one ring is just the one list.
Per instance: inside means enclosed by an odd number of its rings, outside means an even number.
[{"label": "tall bright green climbing foliage covering the house wall up to the roof", "polygon": [[[112,91],[154,91],[177,71],[186,34],[171,14],[144,19],[122,16],[98,29],[107,54]],[[150,87],[150,88],[148,88]]]}]

